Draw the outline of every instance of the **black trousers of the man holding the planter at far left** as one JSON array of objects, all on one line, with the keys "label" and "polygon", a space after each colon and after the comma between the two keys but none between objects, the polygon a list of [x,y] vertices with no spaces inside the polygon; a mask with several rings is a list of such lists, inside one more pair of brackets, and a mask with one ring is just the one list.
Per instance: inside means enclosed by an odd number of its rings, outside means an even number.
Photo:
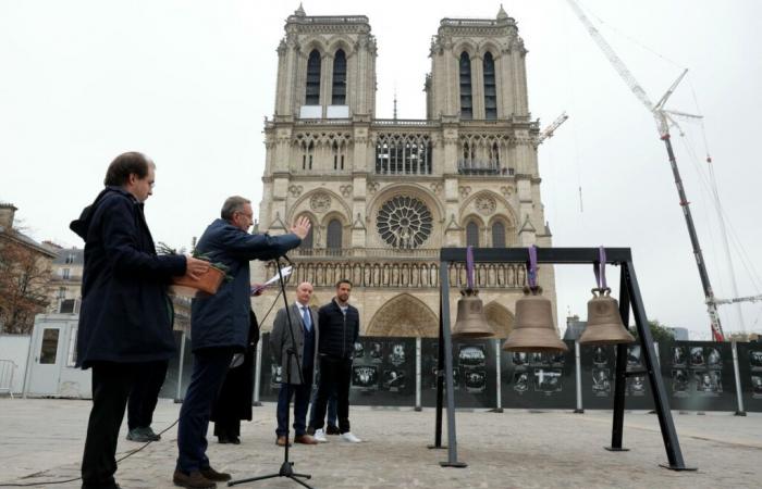
[{"label": "black trousers of the man holding the planter at far left", "polygon": [[119,428],[130,391],[144,367],[142,363],[93,364],[93,409],[82,457],[83,489],[115,486]]}]

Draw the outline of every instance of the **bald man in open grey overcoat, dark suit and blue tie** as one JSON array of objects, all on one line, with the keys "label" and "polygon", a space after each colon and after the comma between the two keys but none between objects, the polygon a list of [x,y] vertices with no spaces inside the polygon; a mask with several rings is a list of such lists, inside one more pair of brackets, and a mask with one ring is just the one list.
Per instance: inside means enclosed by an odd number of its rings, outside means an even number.
[{"label": "bald man in open grey overcoat, dark suit and blue tie", "polygon": [[[282,366],[283,381],[281,392],[278,396],[278,429],[275,429],[275,442],[284,447],[288,442],[288,426],[286,416],[292,396],[294,400],[294,442],[304,444],[317,444],[315,439],[307,435],[307,408],[312,391],[315,365],[318,358],[318,343],[320,333],[316,327],[315,315],[309,309],[309,299],[312,297],[312,285],[303,281],[296,287],[296,302],[286,309],[278,311],[270,335],[270,350],[275,362]],[[291,324],[288,323],[291,319]],[[293,331],[293,341],[292,341]],[[294,355],[288,355],[291,350]],[[291,369],[288,371],[288,360]],[[302,375],[299,375],[302,367]],[[291,378],[286,378],[291,372]]]}]

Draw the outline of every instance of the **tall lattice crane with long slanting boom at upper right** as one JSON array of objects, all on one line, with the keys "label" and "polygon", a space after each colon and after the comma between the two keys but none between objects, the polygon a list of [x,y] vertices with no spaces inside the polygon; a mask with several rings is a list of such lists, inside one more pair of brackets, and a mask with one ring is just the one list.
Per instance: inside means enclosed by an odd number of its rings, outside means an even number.
[{"label": "tall lattice crane with long slanting boom at upper right", "polygon": [[667,156],[669,159],[669,165],[672,166],[672,173],[675,177],[675,185],[677,186],[677,195],[680,199],[680,208],[683,208],[683,215],[686,220],[686,225],[688,226],[688,235],[690,236],[690,242],[693,247],[693,258],[696,259],[696,265],[699,268],[699,276],[701,277],[701,286],[703,287],[706,312],[709,313],[709,321],[712,327],[712,336],[715,341],[723,341],[724,334],[722,324],[720,323],[720,314],[717,314],[717,300],[714,297],[714,291],[712,290],[712,284],[709,280],[709,273],[706,272],[706,265],[704,264],[703,253],[701,252],[701,247],[699,246],[699,237],[696,234],[696,226],[693,225],[693,216],[690,213],[690,202],[686,197],[685,188],[683,187],[683,179],[680,178],[680,173],[677,168],[677,160],[675,159],[675,152],[672,149],[672,141],[669,137],[669,127],[677,126],[675,118],[700,118],[699,115],[686,114],[684,112],[667,111],[664,109],[667,100],[675,91],[677,85],[683,80],[688,70],[685,70],[677,79],[669,86],[667,91],[662,96],[659,102],[653,103],[649,99],[646,90],[638,84],[632,73],[627,68],[627,65],[619,59],[614,49],[606,42],[605,38],[595,28],[595,26],[590,22],[582,9],[577,4],[575,0],[567,0],[569,7],[577,15],[579,21],[585,25],[588,34],[592,37],[593,41],[603,51],[609,62],[614,66],[614,70],[619,74],[622,79],[625,82],[630,91],[635,97],[640,100],[640,102],[646,106],[646,109],[653,115],[656,121],[656,129],[659,130],[659,137],[664,141],[666,147]]}]

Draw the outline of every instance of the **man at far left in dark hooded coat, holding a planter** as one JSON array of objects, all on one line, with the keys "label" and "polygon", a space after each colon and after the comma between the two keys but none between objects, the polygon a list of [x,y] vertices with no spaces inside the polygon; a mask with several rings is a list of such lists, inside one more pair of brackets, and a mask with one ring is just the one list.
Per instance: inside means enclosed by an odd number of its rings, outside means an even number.
[{"label": "man at far left in dark hooded coat, holding a planter", "polygon": [[93,367],[83,488],[119,487],[116,440],[127,396],[147,364],[174,354],[167,285],[209,267],[193,258],[156,254],[143,214],[153,180],[153,162],[142,153],[116,156],[106,188],[70,226],[85,240],[76,364]]}]

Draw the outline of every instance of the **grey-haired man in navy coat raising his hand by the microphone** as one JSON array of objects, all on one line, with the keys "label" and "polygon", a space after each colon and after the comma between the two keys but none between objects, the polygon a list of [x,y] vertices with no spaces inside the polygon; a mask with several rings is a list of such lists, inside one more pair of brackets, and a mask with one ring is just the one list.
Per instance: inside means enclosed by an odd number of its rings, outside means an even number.
[{"label": "grey-haired man in navy coat raising his hand by the microphone", "polygon": [[211,468],[207,451],[207,429],[212,403],[220,392],[233,354],[244,352],[251,310],[250,260],[271,260],[299,246],[309,231],[309,220],[302,217],[291,234],[271,237],[249,235],[254,224],[251,202],[231,197],[222,205],[221,218],[207,227],[196,251],[212,264],[228,268],[216,294],[196,298],[190,309],[193,374],[177,429],[177,465],[174,484],[188,488],[214,487],[230,480],[230,474]]}]

